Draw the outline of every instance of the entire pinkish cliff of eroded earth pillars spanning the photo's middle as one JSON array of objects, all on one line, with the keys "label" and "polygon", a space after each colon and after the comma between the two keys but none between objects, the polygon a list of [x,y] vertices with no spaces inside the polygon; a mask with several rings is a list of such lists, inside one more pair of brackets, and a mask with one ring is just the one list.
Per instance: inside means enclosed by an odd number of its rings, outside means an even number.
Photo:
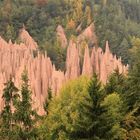
[{"label": "entire pinkish cliff of eroded earth pillars spanning the photo's middle", "polygon": [[[88,31],[91,34],[91,31]],[[88,36],[88,33],[86,33]],[[91,36],[91,35],[89,35]],[[21,86],[21,74],[26,68],[32,90],[33,107],[43,114],[43,103],[47,97],[48,88],[51,88],[53,95],[57,96],[62,85],[69,79],[75,79],[80,75],[92,76],[98,74],[103,84],[108,76],[116,69],[120,73],[126,74],[128,66],[124,66],[121,59],[113,56],[106,42],[106,50],[103,53],[101,48],[92,48],[91,55],[88,46],[85,46],[83,67],[80,69],[80,55],[77,42],[70,40],[67,48],[66,72],[56,70],[47,54],[37,51],[37,43],[22,29],[20,39],[23,43],[16,44],[9,41],[7,43],[0,37],[0,111],[3,108],[2,91],[4,83],[10,75],[17,87]],[[64,39],[65,40],[65,39]],[[64,41],[65,45],[67,41]],[[80,43],[80,42],[79,42]],[[37,51],[37,56],[33,56],[33,51]]]}]

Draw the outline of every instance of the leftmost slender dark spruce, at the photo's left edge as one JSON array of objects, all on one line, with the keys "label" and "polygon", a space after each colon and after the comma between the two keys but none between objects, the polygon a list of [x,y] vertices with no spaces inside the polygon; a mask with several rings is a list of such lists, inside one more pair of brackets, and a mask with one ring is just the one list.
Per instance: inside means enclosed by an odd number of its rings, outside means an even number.
[{"label": "leftmost slender dark spruce, at the photo's left edge", "polygon": [[2,139],[12,139],[13,125],[14,125],[14,115],[12,107],[14,107],[17,99],[18,89],[14,85],[12,78],[5,83],[5,88],[3,89],[2,98],[4,100],[4,108],[1,112],[1,126],[0,126],[0,138]]}]

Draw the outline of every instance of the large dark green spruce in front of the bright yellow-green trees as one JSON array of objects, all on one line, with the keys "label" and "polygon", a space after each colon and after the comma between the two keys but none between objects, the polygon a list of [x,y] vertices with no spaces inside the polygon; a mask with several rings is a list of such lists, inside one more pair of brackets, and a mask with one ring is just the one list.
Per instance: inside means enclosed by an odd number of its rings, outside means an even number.
[{"label": "large dark green spruce in front of the bright yellow-green trees", "polygon": [[[79,139],[99,139],[100,127],[101,127],[101,115],[104,112],[104,108],[101,106],[101,102],[104,99],[104,90],[101,82],[99,82],[97,75],[95,74],[88,85],[89,97],[85,97],[84,114],[86,114],[90,120],[90,125],[84,131],[77,131],[72,134],[72,137]],[[90,104],[89,104],[90,102]],[[82,126],[84,122],[79,121]],[[84,126],[83,126],[84,127]],[[99,129],[100,128],[100,129]]]}]

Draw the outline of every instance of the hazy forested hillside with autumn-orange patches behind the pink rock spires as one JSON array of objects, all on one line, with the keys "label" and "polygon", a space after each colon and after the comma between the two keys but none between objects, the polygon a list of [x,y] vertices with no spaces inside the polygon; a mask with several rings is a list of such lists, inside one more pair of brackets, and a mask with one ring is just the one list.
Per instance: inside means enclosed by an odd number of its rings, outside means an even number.
[{"label": "hazy forested hillside with autumn-orange patches behind the pink rock spires", "polygon": [[109,40],[113,53],[128,63],[131,39],[140,37],[139,13],[139,0],[1,0],[0,35],[6,40],[18,40],[19,29],[25,26],[40,49],[51,47],[53,52],[48,52],[52,58],[51,53],[58,56],[59,24],[70,38],[94,22],[99,46],[103,48]]}]

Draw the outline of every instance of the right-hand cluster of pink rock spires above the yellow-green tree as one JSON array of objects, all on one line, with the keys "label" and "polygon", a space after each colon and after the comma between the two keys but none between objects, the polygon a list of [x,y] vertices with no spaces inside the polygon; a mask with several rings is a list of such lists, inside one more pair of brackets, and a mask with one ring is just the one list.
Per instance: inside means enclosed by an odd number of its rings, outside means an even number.
[{"label": "right-hand cluster of pink rock spires above the yellow-green tree", "polygon": [[[127,73],[128,66],[122,64],[121,58],[117,59],[115,55],[113,56],[109,49],[108,41],[105,45],[105,53],[101,48],[93,47],[91,50],[91,57],[88,46],[85,46],[82,69],[80,69],[80,56],[76,46],[76,43],[70,41],[67,50],[66,79],[74,79],[81,74],[92,76],[93,73],[96,73],[100,81],[105,84],[114,70],[118,69],[122,74]],[[80,73],[80,71],[82,73]]]}]

